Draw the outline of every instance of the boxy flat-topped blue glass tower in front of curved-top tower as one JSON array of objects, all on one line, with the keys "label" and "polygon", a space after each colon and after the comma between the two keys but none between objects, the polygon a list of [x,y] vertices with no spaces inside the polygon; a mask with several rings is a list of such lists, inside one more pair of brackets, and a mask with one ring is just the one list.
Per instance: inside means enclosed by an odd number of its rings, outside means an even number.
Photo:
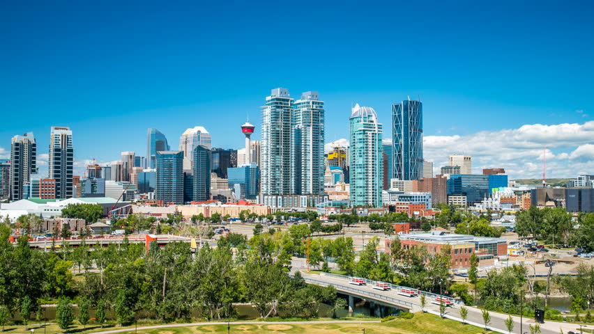
[{"label": "boxy flat-topped blue glass tower in front of curved-top tower", "polygon": [[183,203],[183,152],[157,151],[155,200]]}]

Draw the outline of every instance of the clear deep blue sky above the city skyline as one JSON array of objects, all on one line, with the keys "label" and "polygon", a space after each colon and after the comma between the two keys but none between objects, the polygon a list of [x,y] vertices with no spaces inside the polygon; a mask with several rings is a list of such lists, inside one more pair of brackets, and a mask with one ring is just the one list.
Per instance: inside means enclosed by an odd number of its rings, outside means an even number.
[{"label": "clear deep blue sky above the city skyline", "polygon": [[407,95],[420,96],[436,141],[594,114],[591,1],[88,2],[0,5],[0,155],[28,131],[47,153],[52,125],[73,129],[81,162],[144,155],[147,127],[174,148],[195,125],[241,148],[239,126],[249,112],[259,137],[276,87],[320,92],[326,142],[348,138],[356,102],[389,129],[390,104]]}]

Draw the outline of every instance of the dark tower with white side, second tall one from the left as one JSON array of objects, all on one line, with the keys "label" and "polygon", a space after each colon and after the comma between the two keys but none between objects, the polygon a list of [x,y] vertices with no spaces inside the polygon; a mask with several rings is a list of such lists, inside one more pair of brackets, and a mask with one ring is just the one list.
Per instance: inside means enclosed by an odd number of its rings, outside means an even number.
[{"label": "dark tower with white side, second tall one from the left", "polygon": [[50,179],[56,180],[56,198],[73,197],[74,148],[69,127],[52,127]]}]

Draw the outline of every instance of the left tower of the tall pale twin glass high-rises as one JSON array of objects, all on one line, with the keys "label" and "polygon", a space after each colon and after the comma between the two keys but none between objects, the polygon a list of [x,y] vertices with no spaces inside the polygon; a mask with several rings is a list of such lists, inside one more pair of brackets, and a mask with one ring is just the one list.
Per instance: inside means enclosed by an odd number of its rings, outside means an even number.
[{"label": "left tower of the tall pale twin glass high-rises", "polygon": [[275,88],[262,107],[261,193],[291,193],[291,104],[286,88]]}]

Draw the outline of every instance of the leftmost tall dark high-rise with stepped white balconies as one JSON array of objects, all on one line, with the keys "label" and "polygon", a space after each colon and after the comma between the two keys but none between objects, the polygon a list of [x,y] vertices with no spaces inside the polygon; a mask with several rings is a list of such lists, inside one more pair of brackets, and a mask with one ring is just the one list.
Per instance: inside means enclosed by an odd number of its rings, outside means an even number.
[{"label": "leftmost tall dark high-rise with stepped white balconies", "polygon": [[24,198],[24,184],[37,173],[37,143],[33,132],[14,136],[10,145],[10,200]]}]

